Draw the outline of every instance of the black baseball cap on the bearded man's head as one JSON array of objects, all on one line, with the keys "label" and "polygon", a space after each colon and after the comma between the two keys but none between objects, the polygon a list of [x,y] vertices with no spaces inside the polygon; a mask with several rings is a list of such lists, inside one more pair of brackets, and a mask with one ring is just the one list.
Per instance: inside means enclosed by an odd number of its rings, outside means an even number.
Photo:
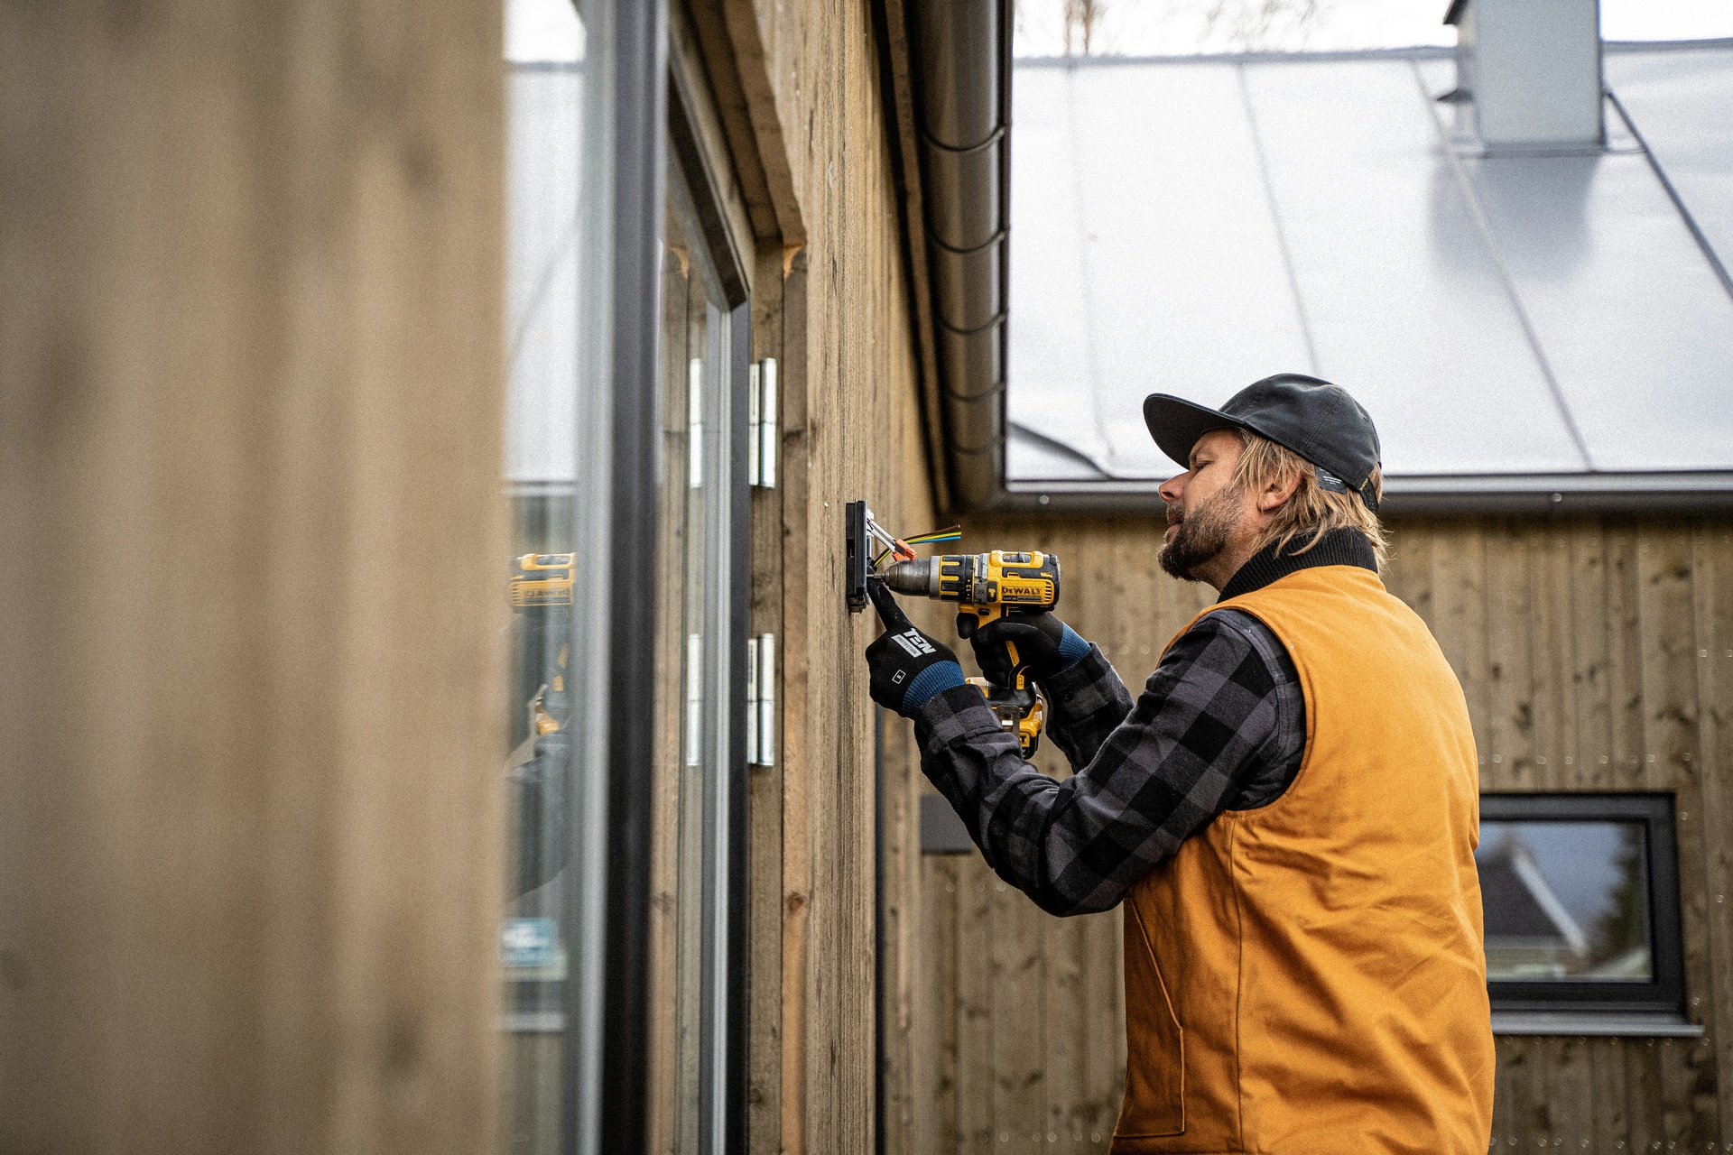
[{"label": "black baseball cap on the bearded man's head", "polygon": [[1378,509],[1378,429],[1340,384],[1279,372],[1234,393],[1222,409],[1151,393],[1144,398],[1144,424],[1161,452],[1187,469],[1192,445],[1210,429],[1251,429],[1317,466],[1324,488],[1353,490],[1367,509]]}]

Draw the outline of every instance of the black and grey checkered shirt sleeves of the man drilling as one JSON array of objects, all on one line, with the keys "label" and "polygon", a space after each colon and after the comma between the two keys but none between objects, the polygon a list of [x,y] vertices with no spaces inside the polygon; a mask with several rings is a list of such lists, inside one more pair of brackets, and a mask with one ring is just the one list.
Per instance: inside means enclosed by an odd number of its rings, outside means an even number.
[{"label": "black and grey checkered shirt sleeves of the man drilling", "polygon": [[1230,610],[1175,641],[1135,703],[1099,649],[1043,689],[1064,781],[1022,760],[972,686],[932,698],[915,734],[988,864],[1052,914],[1111,909],[1217,814],[1279,795],[1305,748],[1293,661]]}]

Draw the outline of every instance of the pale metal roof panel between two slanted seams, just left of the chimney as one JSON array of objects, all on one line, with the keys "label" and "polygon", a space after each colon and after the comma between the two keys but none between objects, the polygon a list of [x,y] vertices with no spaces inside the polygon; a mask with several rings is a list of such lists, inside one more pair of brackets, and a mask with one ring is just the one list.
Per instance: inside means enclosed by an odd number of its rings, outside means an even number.
[{"label": "pale metal roof panel between two slanted seams, just left of the chimney", "polygon": [[1248,87],[1319,376],[1373,414],[1385,469],[1580,469],[1412,64],[1272,64]]}]

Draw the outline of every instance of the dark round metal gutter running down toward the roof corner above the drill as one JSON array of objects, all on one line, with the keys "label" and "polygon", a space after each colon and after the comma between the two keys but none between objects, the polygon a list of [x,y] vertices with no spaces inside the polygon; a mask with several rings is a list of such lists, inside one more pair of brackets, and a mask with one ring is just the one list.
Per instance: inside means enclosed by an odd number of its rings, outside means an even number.
[{"label": "dark round metal gutter running down toward the roof corner above the drill", "polygon": [[1005,488],[1010,0],[908,0],[953,513]]}]

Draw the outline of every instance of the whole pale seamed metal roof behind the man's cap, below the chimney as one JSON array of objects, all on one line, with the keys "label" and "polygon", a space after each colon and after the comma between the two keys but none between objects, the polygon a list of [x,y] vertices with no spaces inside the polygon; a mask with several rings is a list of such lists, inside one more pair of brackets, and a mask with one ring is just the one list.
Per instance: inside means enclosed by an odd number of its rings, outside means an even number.
[{"label": "whole pale seamed metal roof behind the man's cap, below the chimney", "polygon": [[1605,151],[1485,156],[1447,50],[1019,62],[1009,488],[1147,490],[1146,393],[1301,371],[1393,497],[1733,494],[1733,42],[1605,78]]}]

